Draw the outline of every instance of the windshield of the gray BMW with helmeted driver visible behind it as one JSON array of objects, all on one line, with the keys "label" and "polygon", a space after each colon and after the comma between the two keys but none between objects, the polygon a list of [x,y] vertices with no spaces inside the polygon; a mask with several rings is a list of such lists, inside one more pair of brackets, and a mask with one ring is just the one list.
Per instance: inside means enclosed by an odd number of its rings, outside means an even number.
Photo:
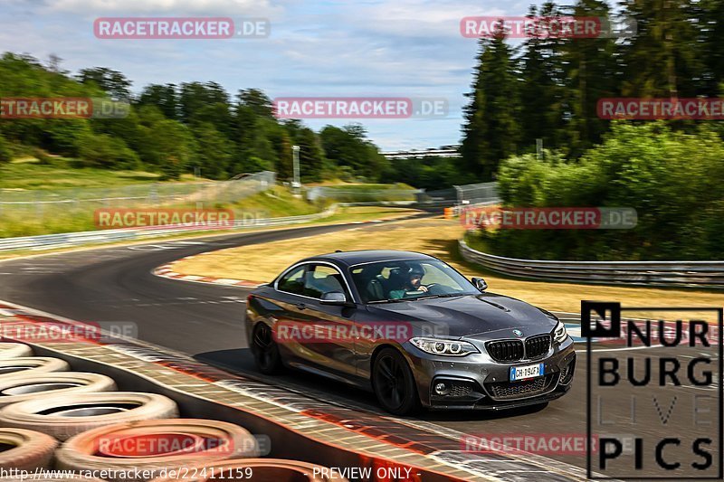
[{"label": "windshield of the gray BMW with helmeted driver visible behind it", "polygon": [[366,303],[476,295],[480,291],[440,260],[392,260],[351,268]]}]

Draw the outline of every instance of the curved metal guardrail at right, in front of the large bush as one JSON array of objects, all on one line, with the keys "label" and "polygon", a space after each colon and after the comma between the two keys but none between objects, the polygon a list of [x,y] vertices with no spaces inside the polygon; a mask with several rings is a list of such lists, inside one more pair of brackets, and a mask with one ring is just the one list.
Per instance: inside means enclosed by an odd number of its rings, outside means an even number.
[{"label": "curved metal guardrail at right, in front of the large bush", "polygon": [[470,248],[462,258],[502,274],[576,283],[657,287],[724,288],[724,261],[550,261],[518,260]]}]

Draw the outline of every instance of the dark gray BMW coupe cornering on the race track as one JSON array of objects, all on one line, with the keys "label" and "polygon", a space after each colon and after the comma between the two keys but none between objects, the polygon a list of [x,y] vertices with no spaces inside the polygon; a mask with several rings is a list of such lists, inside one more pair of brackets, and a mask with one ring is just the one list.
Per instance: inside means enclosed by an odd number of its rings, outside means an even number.
[{"label": "dark gray BMW coupe cornering on the race track", "polygon": [[398,415],[566,393],[576,351],[563,323],[486,288],[416,252],[315,256],[252,291],[247,339],[262,373],[287,366],[352,383]]}]

